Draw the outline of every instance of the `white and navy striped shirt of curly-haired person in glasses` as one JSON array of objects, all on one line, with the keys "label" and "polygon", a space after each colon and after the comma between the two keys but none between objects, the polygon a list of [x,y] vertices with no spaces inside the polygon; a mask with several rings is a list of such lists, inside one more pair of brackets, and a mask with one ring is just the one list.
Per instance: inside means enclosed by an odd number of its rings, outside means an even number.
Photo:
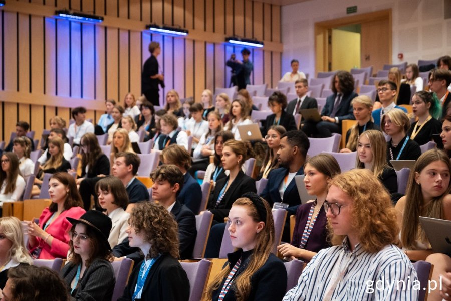
[{"label": "white and navy striped shirt of curly-haired person in glasses", "polygon": [[319,251],[283,300],[417,300],[417,289],[416,271],[398,247],[368,253],[357,244],[351,251],[345,238]]}]

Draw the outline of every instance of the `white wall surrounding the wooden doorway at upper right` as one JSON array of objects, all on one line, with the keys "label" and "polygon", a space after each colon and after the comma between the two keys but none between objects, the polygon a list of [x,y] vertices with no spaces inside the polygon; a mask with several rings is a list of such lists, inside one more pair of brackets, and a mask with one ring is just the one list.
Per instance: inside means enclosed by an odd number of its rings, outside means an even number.
[{"label": "white wall surrounding the wooden doorway at upper right", "polygon": [[[282,74],[290,61],[299,60],[299,70],[315,76],[315,22],[351,16],[346,7],[357,5],[357,14],[392,9],[392,63],[416,63],[451,54],[451,19],[443,18],[444,0],[311,0],[283,6],[281,10]],[[397,58],[404,54],[403,60]],[[388,62],[387,62],[388,63]]]}]

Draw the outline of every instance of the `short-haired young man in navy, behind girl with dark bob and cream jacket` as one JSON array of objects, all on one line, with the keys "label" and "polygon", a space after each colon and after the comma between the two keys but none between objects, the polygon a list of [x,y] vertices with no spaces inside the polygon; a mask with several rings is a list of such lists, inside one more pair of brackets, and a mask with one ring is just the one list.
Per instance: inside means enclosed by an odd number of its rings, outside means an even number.
[{"label": "short-haired young man in navy, behind girl with dark bob and cream jacket", "polygon": [[149,192],[141,181],[135,178],[141,160],[138,155],[130,152],[117,153],[113,168],[113,176],[119,178],[125,187],[128,195],[128,205],[126,211],[131,212],[137,202],[148,201]]}]

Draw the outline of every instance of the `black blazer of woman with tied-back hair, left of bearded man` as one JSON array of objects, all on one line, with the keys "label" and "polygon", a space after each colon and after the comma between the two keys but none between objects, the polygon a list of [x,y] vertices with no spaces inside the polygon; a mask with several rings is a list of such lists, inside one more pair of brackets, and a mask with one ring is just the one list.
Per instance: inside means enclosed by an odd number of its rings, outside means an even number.
[{"label": "black blazer of woman with tied-back hair, left of bearded man", "polygon": [[218,223],[224,222],[224,217],[229,216],[230,208],[232,208],[232,204],[246,192],[257,192],[255,189],[255,180],[251,177],[245,175],[242,170],[235,178],[234,182],[229,186],[227,192],[225,192],[224,197],[222,198],[219,206],[215,207],[216,201],[219,198],[219,193],[222,188],[225,186],[225,183],[229,181],[230,176],[219,179],[216,181],[216,186],[214,187],[214,191],[208,200],[208,210],[214,214],[213,220]]}]

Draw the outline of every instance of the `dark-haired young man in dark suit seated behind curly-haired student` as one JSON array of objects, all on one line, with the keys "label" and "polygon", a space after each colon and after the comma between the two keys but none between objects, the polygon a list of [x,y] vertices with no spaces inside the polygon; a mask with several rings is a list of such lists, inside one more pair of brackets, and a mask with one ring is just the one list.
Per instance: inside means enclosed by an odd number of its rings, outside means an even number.
[{"label": "dark-haired young man in dark suit seated behind curly-haired student", "polygon": [[[150,177],[154,181],[152,199],[171,212],[178,224],[180,258],[192,258],[192,250],[197,236],[196,218],[188,207],[177,200],[177,195],[183,188],[183,174],[177,166],[167,164],[157,167]],[[134,253],[136,251],[136,248],[129,246],[128,238],[113,248],[115,257],[127,256],[133,260],[135,257],[139,257]]]}]

